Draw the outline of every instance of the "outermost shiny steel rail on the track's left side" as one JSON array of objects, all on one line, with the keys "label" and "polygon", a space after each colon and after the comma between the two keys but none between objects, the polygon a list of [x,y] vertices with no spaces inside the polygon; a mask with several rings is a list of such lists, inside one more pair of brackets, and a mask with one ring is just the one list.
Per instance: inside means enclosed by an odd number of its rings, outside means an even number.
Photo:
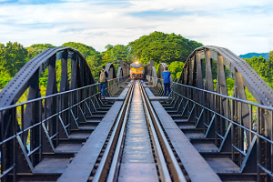
[{"label": "outermost shiny steel rail on the track's left side", "polygon": [[133,95],[133,88],[134,88],[134,84],[132,84],[132,86],[130,86],[130,90],[126,96],[126,100],[124,101],[124,104],[123,104],[123,106],[119,112],[119,115],[116,119],[116,125],[113,129],[111,136],[110,136],[110,139],[109,139],[108,144],[106,146],[106,150],[105,150],[103,157],[99,163],[99,166],[96,169],[96,174],[92,180],[93,182],[106,180],[106,178],[104,178],[104,177],[106,177],[105,173],[107,172],[106,171],[107,170],[106,163],[110,160],[109,157],[111,155],[111,152],[115,149],[114,148],[115,147],[115,140],[117,139],[116,134],[118,133],[118,131],[120,131],[121,126],[123,126],[122,125],[124,123],[123,117],[126,116],[126,114],[127,114],[128,107],[129,107],[128,103],[130,102],[129,98],[131,98]]}]

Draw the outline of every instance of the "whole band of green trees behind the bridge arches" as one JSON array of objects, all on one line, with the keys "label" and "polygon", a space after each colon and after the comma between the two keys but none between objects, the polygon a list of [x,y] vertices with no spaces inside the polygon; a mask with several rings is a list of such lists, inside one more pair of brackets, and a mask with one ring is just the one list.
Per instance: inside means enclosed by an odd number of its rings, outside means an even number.
[{"label": "whole band of green trees behind the bridge arches", "polygon": [[[98,78],[98,72],[106,63],[114,63],[116,68],[118,61],[126,61],[132,63],[140,61],[146,64],[150,60],[155,61],[155,66],[158,68],[160,62],[167,63],[169,71],[173,78],[178,78],[181,75],[182,67],[187,59],[187,56],[198,46],[202,44],[196,41],[188,40],[181,35],[164,34],[154,32],[150,35],[144,35],[130,42],[128,45],[106,45],[106,51],[99,53],[92,46],[68,42],[62,46],[70,46],[76,48],[83,56],[86,57],[86,62],[92,71],[95,78]],[[50,44],[35,44],[29,47],[24,47],[19,43],[8,42],[6,45],[0,44],[0,89],[3,88],[8,81],[12,79],[17,71],[31,58],[43,52],[46,48],[56,47]],[[245,59],[250,66],[261,76],[269,86],[273,87],[273,51],[268,54],[268,60],[262,56],[254,56]],[[203,63],[205,64],[205,62]],[[68,60],[68,75],[71,70],[71,62]],[[56,61],[56,81],[60,82],[61,62]],[[205,67],[205,66],[203,66]],[[217,62],[212,63],[213,79],[216,84],[217,80]],[[205,74],[205,70],[204,70]],[[226,70],[226,75],[229,75]],[[47,82],[48,70],[40,76],[40,88],[42,96],[45,96],[45,87]],[[228,94],[231,96],[234,80],[232,77],[227,78]]]}]

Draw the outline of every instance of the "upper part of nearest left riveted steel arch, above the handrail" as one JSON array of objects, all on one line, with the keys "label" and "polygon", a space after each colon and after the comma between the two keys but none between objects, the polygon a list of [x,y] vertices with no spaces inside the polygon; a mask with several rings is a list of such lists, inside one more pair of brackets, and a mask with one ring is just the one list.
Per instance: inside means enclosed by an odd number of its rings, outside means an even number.
[{"label": "upper part of nearest left riveted steel arch, above the handrail", "polygon": [[15,104],[29,87],[27,100],[39,97],[39,75],[48,67],[46,96],[56,93],[56,60],[62,60],[60,92],[69,89],[67,80],[67,59],[71,59],[71,89],[95,84],[86,58],[71,47],[46,49],[23,66],[14,78],[0,92],[0,107]]}]

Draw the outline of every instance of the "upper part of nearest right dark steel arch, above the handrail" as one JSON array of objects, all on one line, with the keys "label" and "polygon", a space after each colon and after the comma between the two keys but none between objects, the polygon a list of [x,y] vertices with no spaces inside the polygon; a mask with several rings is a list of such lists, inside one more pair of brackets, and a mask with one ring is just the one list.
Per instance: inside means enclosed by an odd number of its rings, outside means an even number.
[{"label": "upper part of nearest right dark steel arch, above the handrail", "polygon": [[[206,82],[205,86],[202,77],[202,61],[206,60]],[[244,86],[259,104],[273,106],[273,90],[268,84],[248,65],[242,58],[236,56],[227,48],[206,45],[198,47],[187,57],[185,66],[178,82],[188,86],[197,86],[213,91],[211,60],[217,60],[217,89],[218,93],[227,95],[227,83],[225,81],[225,67],[235,76],[237,92],[235,96],[245,99]]]}]

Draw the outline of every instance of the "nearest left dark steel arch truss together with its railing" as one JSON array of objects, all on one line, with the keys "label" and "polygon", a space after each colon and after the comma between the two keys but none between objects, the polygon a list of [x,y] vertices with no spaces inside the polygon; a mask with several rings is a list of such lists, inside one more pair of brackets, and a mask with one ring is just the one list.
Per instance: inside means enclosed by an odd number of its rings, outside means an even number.
[{"label": "nearest left dark steel arch truss together with its railing", "polygon": [[[40,78],[47,71],[41,97]],[[107,64],[106,71],[111,78],[106,92],[114,95],[119,85],[115,66]],[[15,104],[26,91],[27,101]],[[103,106],[100,84],[76,49],[51,48],[35,56],[0,93],[1,181],[16,181],[18,174],[40,174],[35,166],[44,156],[61,153],[60,142],[69,140]]]}]

